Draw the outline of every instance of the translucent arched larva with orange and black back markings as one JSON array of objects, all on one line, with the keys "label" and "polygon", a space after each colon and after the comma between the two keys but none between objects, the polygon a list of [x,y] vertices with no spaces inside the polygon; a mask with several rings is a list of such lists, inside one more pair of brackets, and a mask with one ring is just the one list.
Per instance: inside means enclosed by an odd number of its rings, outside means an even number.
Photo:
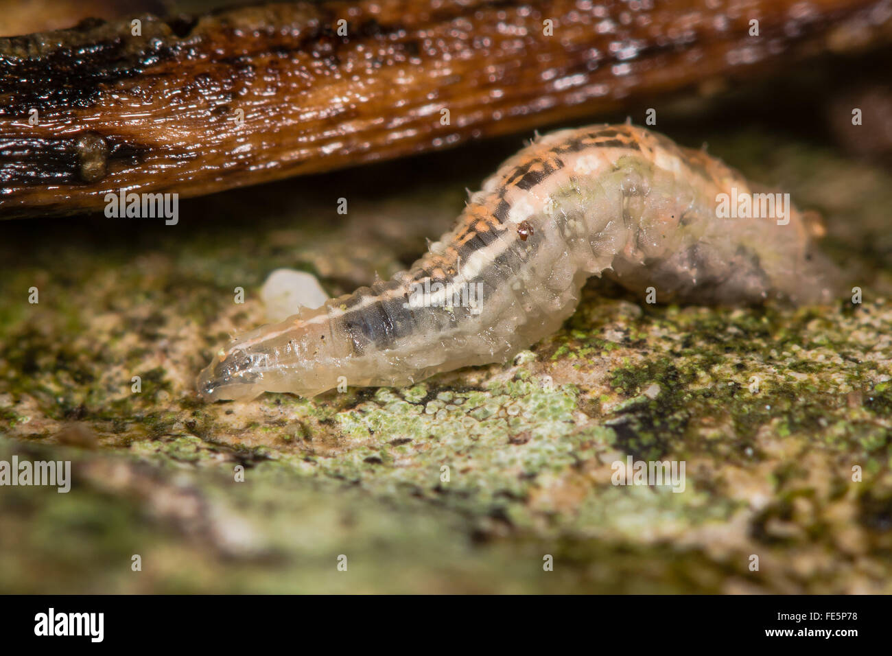
[{"label": "translucent arched larva with orange and black back markings", "polygon": [[487,179],[409,271],[235,340],[199,392],[313,396],[339,379],[401,386],[505,361],[557,330],[602,273],[660,302],[829,301],[831,266],[792,206],[720,218],[721,195],[751,193],[722,162],[646,129],[552,133]]}]

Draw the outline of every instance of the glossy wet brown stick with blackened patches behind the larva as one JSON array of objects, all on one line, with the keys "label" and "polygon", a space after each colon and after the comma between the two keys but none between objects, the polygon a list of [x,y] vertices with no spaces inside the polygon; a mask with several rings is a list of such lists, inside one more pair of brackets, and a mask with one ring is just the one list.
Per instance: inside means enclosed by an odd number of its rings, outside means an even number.
[{"label": "glossy wet brown stick with blackened patches behind the larva", "polygon": [[99,210],[120,188],[208,194],[615,109],[885,39],[886,6],[293,3],[4,38],[0,215]]}]

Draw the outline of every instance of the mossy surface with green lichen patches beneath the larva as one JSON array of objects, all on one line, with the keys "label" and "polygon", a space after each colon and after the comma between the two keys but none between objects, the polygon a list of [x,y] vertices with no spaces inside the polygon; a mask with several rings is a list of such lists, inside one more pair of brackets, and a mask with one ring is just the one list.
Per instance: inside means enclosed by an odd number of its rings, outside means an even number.
[{"label": "mossy surface with green lichen patches beneath the larva", "polygon": [[[389,276],[516,139],[183,202],[177,226],[4,224],[0,461],[70,460],[73,481],[0,487],[0,588],[892,592],[892,179],[709,137],[824,213],[863,303],[665,306],[595,283],[504,365],[208,405],[194,377],[264,320],[270,270],[331,294]],[[683,492],[613,485],[630,456],[684,461]]]}]

